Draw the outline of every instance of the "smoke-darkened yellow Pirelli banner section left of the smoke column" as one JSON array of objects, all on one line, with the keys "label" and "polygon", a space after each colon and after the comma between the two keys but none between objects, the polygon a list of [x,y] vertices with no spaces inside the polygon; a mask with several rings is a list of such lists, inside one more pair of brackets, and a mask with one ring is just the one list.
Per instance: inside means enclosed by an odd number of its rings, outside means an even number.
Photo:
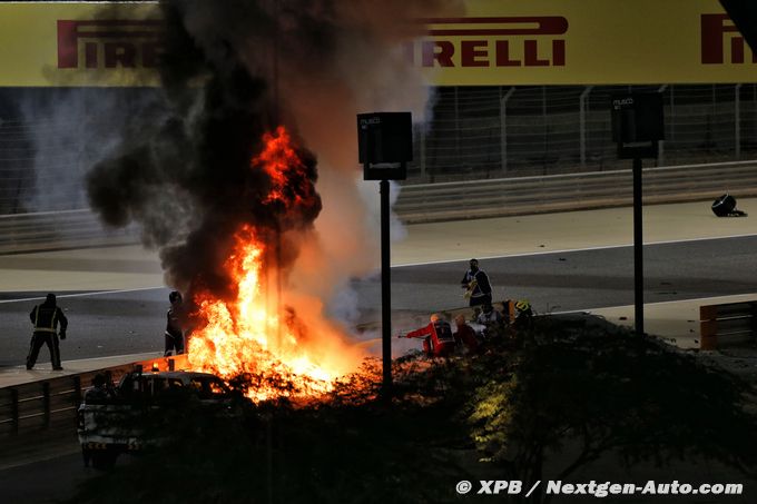
[{"label": "smoke-darkened yellow Pirelli banner section left of the smoke column", "polygon": [[0,2],[0,86],[156,86],[155,3]]}]

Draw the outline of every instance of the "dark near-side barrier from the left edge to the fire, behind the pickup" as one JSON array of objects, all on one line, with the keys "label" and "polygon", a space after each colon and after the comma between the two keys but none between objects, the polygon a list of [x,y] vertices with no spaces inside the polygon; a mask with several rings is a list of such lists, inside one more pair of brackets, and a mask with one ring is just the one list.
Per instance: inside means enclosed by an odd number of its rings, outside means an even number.
[{"label": "dark near-side barrier from the left edge to the fire, behind the pickup", "polygon": [[77,409],[95,375],[110,372],[117,383],[135,366],[145,370],[180,369],[186,366],[186,358],[160,357],[0,388],[0,446],[47,429],[75,432]]}]

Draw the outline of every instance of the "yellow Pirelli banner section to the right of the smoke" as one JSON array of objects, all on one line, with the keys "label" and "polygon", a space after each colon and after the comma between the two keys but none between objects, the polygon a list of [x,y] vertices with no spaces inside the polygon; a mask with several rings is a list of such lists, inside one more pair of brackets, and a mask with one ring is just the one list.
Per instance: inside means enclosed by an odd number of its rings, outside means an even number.
[{"label": "yellow Pirelli banner section to the right of the smoke", "polygon": [[439,85],[757,81],[757,59],[717,0],[471,0],[429,19],[415,65]]}]

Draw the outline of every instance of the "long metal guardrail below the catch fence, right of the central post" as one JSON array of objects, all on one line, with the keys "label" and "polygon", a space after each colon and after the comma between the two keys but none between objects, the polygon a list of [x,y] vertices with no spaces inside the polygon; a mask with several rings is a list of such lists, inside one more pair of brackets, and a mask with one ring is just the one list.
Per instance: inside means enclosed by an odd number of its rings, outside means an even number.
[{"label": "long metal guardrail below the catch fence, right of the central post", "polygon": [[[643,169],[643,202],[709,200],[724,192],[757,196],[757,161]],[[627,170],[406,185],[394,205],[405,224],[630,206]]]}]

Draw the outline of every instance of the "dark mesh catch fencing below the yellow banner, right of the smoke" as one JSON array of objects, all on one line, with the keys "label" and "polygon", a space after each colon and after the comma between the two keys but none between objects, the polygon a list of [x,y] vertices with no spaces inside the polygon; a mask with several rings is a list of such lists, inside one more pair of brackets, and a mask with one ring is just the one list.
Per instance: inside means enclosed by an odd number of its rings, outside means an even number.
[{"label": "dark mesh catch fencing below the yellow banner, right of the smoke", "polygon": [[419,181],[625,168],[611,138],[618,92],[660,92],[665,141],[655,166],[739,161],[757,152],[757,85],[439,87],[415,130]]}]

